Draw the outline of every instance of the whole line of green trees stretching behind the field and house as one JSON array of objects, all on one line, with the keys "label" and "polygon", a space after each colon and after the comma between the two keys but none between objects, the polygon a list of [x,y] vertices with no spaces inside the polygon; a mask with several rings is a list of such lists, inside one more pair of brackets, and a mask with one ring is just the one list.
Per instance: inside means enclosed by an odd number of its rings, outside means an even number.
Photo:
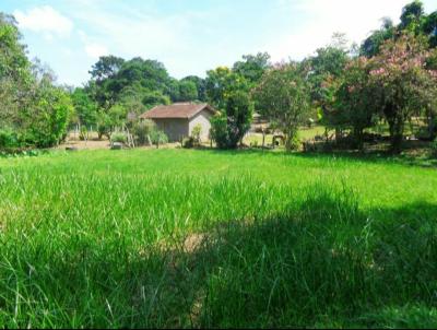
[{"label": "whole line of green trees stretching behind the field and house", "polygon": [[11,141],[52,145],[68,126],[93,127],[101,137],[137,127],[144,135],[138,116],[175,102],[208,102],[218,109],[211,137],[226,149],[240,143],[253,111],[285,135],[287,149],[299,145],[298,128],[309,118],[335,131],[339,142],[357,148],[366,129],[385,121],[392,150],[400,151],[405,125],[414,117],[425,119],[434,139],[437,11],[426,14],[414,1],[403,9],[400,24],[383,20],[359,47],[346,45],[335,34],[330,45],[300,62],[273,64],[269,54],[260,52],[244,56],[232,68],[210,70],[205,79],[181,80],[156,60],[106,56],[91,68],[83,87],[68,91],[27,60],[15,22],[2,15],[0,146]]}]

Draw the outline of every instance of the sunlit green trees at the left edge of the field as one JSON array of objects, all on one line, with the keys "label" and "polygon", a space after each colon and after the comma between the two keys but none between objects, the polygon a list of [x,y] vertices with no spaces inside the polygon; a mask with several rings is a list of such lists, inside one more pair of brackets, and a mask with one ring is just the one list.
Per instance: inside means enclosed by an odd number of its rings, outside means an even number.
[{"label": "sunlit green trees at the left edge of the field", "polygon": [[14,19],[0,13],[0,149],[51,146],[66,135],[71,97],[20,39]]}]

